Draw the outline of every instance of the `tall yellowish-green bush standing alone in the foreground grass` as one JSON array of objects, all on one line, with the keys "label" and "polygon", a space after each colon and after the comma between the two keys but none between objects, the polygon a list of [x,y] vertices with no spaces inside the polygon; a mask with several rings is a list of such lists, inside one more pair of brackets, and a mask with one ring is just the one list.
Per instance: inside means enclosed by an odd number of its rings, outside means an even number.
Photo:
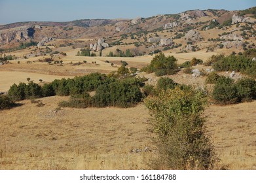
[{"label": "tall yellowish-green bush standing alone in the foreground grass", "polygon": [[212,169],[215,156],[210,139],[204,134],[202,116],[206,105],[200,91],[181,88],[162,90],[145,100],[153,115],[151,131],[156,135],[158,158],[153,169]]}]

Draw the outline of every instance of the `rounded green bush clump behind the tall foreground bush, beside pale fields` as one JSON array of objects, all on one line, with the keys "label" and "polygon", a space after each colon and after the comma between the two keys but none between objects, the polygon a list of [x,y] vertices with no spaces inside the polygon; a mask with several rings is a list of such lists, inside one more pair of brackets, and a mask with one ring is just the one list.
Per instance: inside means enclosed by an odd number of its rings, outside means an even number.
[{"label": "rounded green bush clump behind the tall foreground bush, beside pale fields", "polygon": [[166,57],[163,53],[156,55],[152,60],[151,64],[143,71],[147,73],[155,72],[156,76],[173,75],[177,73],[177,59],[174,56]]}]

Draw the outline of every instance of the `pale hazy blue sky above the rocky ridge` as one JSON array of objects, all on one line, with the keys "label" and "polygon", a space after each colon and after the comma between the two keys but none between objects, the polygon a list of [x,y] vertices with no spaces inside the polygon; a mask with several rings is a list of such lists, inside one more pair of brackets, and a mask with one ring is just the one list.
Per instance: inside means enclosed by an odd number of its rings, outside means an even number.
[{"label": "pale hazy blue sky above the rocky ridge", "polygon": [[193,9],[241,10],[255,6],[256,0],[0,0],[0,24],[136,18]]}]

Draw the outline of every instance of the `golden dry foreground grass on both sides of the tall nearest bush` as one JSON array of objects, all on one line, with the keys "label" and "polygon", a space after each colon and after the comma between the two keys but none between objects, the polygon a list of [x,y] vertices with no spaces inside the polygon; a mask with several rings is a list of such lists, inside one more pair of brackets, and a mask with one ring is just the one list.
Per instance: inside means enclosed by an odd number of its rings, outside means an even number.
[{"label": "golden dry foreground grass on both sides of the tall nearest bush", "polygon": [[[149,112],[133,108],[58,108],[67,97],[29,100],[0,111],[0,169],[149,169],[155,148]],[[256,102],[206,110],[208,134],[229,169],[255,169]],[[144,152],[145,148],[148,152]],[[130,152],[130,150],[142,150]]]}]

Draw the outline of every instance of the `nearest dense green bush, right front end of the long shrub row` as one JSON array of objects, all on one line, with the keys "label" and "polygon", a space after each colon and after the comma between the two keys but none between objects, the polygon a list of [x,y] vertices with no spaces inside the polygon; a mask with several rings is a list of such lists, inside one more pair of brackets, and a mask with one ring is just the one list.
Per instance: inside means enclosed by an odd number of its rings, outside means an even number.
[{"label": "nearest dense green bush, right front end of the long shrub row", "polygon": [[94,96],[88,93],[72,95],[69,101],[60,103],[61,107],[131,107],[141,101],[141,80],[137,78],[107,79],[96,88]]}]

